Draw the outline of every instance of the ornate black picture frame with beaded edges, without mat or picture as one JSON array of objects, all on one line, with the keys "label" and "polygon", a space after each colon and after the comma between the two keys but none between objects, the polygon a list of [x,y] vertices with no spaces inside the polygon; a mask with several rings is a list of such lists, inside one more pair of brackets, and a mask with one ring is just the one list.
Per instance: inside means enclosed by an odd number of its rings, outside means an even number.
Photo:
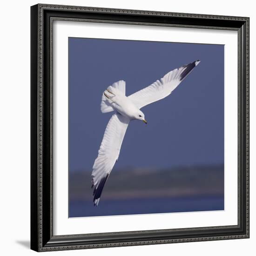
[{"label": "ornate black picture frame with beaded edges, without mat or picture", "polygon": [[[238,32],[238,225],[53,235],[53,21]],[[86,230],[85,230],[86,231]],[[31,249],[52,251],[249,238],[249,18],[38,4],[31,7]]]}]

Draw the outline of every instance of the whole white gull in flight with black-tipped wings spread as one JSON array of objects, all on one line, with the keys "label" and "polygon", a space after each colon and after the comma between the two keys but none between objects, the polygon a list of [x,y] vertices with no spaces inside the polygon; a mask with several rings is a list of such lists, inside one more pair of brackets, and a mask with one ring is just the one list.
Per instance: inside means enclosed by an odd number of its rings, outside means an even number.
[{"label": "whole white gull in flight with black-tipped wings spread", "polygon": [[102,189],[119,157],[121,144],[129,122],[141,120],[147,124],[145,115],[140,109],[171,94],[199,62],[197,60],[176,68],[165,74],[160,80],[129,96],[125,95],[125,81],[122,80],[115,82],[103,92],[101,112],[115,111],[115,113],[108,121],[98,156],[93,165],[94,206],[98,206]]}]

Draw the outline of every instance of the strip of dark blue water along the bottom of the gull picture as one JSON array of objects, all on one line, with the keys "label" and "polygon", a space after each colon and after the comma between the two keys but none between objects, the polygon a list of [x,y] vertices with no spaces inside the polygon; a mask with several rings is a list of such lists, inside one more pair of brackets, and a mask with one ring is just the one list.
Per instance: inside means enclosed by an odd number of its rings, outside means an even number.
[{"label": "strip of dark blue water along the bottom of the gull picture", "polygon": [[69,217],[193,212],[223,209],[223,195],[129,200],[102,199],[98,207],[94,207],[92,200],[72,200],[69,202]]}]

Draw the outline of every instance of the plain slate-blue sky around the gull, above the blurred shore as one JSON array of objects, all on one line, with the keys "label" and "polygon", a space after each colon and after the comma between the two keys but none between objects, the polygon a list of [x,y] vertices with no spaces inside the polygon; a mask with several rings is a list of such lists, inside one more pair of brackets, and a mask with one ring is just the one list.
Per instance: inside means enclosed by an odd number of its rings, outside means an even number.
[{"label": "plain slate-blue sky around the gull, above the blurred shore", "polygon": [[132,94],[176,67],[201,63],[167,98],[131,121],[114,169],[224,162],[224,46],[69,38],[69,170],[91,171],[112,113],[101,94],[126,81]]}]

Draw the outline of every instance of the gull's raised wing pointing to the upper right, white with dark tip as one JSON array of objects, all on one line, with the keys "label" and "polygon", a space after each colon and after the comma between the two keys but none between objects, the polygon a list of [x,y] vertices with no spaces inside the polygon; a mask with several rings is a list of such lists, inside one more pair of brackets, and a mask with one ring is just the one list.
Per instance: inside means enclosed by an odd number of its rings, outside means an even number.
[{"label": "gull's raised wing pointing to the upper right, white with dark tip", "polygon": [[137,106],[142,108],[150,103],[167,97],[182,82],[182,80],[199,64],[198,61],[176,68],[167,73],[161,80],[155,81],[148,87],[137,91],[128,98]]}]

